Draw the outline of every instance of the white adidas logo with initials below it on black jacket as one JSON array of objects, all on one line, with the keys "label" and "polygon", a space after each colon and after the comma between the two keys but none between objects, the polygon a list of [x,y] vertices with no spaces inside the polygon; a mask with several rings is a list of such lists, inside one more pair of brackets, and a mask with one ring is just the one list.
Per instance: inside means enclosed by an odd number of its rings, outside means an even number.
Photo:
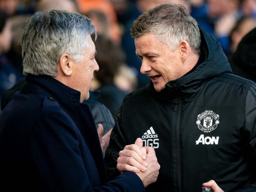
[{"label": "white adidas logo with initials below it on black jacket", "polygon": [[142,135],[141,138],[143,146],[150,146],[155,149],[159,148],[159,138],[152,126]]}]

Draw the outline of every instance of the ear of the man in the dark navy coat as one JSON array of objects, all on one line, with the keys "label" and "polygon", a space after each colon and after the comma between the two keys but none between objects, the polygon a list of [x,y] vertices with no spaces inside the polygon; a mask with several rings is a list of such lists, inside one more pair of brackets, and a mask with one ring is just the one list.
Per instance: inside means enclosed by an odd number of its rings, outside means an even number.
[{"label": "ear of the man in the dark navy coat", "polygon": [[63,54],[59,60],[60,70],[66,76],[70,76],[73,72],[74,61],[71,59],[69,54]]}]

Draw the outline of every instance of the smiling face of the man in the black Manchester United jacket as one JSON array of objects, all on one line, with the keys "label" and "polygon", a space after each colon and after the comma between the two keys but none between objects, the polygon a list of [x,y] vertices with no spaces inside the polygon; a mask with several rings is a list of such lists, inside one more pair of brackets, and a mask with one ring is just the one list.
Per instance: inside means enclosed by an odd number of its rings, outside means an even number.
[{"label": "smiling face of the man in the black Manchester United jacket", "polygon": [[136,54],[142,59],[140,72],[147,74],[156,91],[165,88],[165,84],[176,80],[188,72],[182,62],[181,52],[172,51],[167,44],[148,33],[134,40]]}]

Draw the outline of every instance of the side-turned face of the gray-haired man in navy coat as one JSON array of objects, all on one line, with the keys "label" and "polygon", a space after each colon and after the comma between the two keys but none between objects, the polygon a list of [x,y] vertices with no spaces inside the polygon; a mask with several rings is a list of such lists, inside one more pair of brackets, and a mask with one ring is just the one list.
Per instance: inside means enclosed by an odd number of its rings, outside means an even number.
[{"label": "side-turned face of the gray-haired man in navy coat", "polygon": [[86,41],[88,47],[84,52],[84,58],[74,64],[72,72],[72,88],[81,92],[80,102],[89,98],[94,72],[99,70],[95,60],[96,50],[92,38],[88,35]]}]

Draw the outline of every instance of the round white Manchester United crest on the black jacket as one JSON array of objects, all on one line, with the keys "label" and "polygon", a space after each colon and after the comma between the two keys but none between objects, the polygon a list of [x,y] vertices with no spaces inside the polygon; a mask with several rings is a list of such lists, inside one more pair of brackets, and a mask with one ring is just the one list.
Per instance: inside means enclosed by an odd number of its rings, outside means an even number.
[{"label": "round white Manchester United crest on the black jacket", "polygon": [[203,132],[211,132],[217,128],[220,116],[213,111],[206,110],[197,116],[196,124]]}]

